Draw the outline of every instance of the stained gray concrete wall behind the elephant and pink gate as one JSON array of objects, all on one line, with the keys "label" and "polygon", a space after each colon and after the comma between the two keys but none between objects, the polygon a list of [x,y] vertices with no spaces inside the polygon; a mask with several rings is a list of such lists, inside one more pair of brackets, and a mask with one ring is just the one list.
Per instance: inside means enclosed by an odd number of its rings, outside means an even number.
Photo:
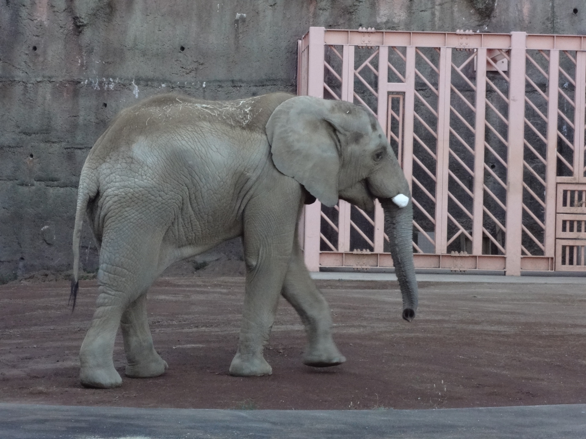
[{"label": "stained gray concrete wall behind the elephant and pink gate", "polygon": [[[584,0],[2,0],[0,282],[70,269],[81,166],[142,98],[294,92],[309,26],[575,34],[585,16]],[[87,228],[82,247],[95,270]]]}]

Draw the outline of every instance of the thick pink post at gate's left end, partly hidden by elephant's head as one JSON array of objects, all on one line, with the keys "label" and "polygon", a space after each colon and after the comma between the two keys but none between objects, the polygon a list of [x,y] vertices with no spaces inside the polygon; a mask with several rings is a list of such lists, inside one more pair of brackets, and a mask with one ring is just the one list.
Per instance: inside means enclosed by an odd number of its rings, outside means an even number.
[{"label": "thick pink post at gate's left end, partly hidden by elephant's head", "polygon": [[[323,98],[325,28],[309,28],[308,95]],[[319,271],[321,208],[319,201],[305,206],[304,259],[310,272]]]}]

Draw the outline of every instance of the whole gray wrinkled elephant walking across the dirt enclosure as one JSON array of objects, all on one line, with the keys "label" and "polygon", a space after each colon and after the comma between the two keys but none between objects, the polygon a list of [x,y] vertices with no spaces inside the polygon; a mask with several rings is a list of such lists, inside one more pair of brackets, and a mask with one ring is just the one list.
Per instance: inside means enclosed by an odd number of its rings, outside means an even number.
[{"label": "whole gray wrinkled elephant walking across the dirt enclosure", "polygon": [[167,94],[125,109],[87,157],[74,229],[74,283],[87,213],[100,245],[100,295],[81,345],[81,383],[120,386],[112,354],[122,328],[126,375],[161,375],[148,328],[146,293],[173,262],[242,236],[246,293],[231,375],[269,375],[263,358],[279,295],[308,334],[304,363],[345,361],[332,340],[329,306],[298,245],[304,203],[338,198],[366,211],[379,198],[403,294],[413,319],[417,284],[407,181],[376,119],[339,101],[275,93],[211,102]]}]

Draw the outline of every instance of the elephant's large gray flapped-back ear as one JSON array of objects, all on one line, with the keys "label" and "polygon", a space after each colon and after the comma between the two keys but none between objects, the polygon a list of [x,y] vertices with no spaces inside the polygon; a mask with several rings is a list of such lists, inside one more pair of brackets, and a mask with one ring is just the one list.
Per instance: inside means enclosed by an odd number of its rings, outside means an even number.
[{"label": "elephant's large gray flapped-back ear", "polygon": [[[272,161],[328,207],[338,203],[340,141],[331,101],[298,96],[280,104],[267,122]],[[329,119],[329,120],[328,120]]]}]

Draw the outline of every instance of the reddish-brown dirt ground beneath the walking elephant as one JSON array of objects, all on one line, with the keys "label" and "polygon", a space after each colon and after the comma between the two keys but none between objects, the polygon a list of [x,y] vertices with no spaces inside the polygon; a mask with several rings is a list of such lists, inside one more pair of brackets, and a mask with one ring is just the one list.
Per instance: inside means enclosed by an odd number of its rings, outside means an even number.
[{"label": "reddish-brown dirt ground beneath the walking elephant", "polygon": [[347,362],[301,363],[305,334],[281,300],[265,358],[272,376],[228,375],[243,277],[165,277],[149,292],[165,375],[130,379],[120,335],[117,389],[79,385],[77,354],[97,295],[80,282],[0,286],[0,402],[218,409],[430,409],[586,402],[586,291],[581,284],[420,283],[413,323],[398,286],[318,282]]}]

